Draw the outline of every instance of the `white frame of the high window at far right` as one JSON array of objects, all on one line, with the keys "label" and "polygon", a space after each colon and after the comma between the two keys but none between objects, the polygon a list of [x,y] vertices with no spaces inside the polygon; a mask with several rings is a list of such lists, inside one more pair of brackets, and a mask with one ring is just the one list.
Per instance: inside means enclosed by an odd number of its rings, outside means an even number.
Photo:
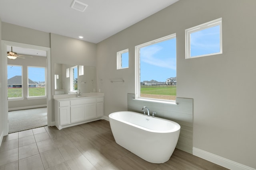
[{"label": "white frame of the high window at far right", "polygon": [[[195,33],[198,31],[202,31],[204,29],[208,29],[210,27],[214,27],[220,25],[220,52],[218,53],[210,53],[210,54],[204,54],[204,55],[197,55],[197,56],[193,56],[191,57],[191,48],[190,48],[190,35],[191,33]],[[194,59],[194,58],[198,58],[198,57],[206,57],[206,56],[211,56],[211,55],[218,55],[218,54],[222,54],[222,18],[218,18],[216,20],[212,20],[191,28],[188,28],[185,30],[185,41],[186,41],[186,55],[185,55],[185,59]]]}]

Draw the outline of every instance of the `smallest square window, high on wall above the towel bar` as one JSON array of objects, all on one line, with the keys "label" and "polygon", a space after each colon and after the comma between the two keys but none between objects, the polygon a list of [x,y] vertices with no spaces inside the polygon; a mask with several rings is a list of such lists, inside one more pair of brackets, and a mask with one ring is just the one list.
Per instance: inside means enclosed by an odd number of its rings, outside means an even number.
[{"label": "smallest square window, high on wall above the towel bar", "polygon": [[129,50],[125,49],[116,53],[117,67],[116,69],[128,68],[129,67]]}]

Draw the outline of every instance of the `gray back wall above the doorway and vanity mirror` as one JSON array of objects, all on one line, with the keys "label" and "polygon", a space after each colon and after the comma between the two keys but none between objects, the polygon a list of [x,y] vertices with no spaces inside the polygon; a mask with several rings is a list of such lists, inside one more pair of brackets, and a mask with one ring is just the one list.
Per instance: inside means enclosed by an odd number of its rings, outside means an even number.
[{"label": "gray back wall above the doorway and vanity mirror", "polygon": [[[2,36],[2,40],[51,47],[51,70],[54,70],[54,63],[96,66],[96,44],[94,43],[53,33],[46,33],[6,22],[2,22],[1,28],[2,35],[4,35]],[[52,82],[53,95],[54,71],[52,71]],[[37,101],[41,103],[35,103],[35,101],[31,102],[29,100],[32,105],[46,104],[45,100]],[[54,104],[53,101],[52,104]],[[22,107],[24,106],[24,102],[8,102],[8,105],[9,108]],[[52,121],[54,121],[54,109],[52,110]]]}]

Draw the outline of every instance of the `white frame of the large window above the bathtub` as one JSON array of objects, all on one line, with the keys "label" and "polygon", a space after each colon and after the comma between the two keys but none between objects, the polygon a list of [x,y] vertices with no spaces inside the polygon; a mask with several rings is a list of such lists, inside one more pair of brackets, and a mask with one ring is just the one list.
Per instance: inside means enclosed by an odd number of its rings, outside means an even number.
[{"label": "white frame of the large window above the bathtub", "polygon": [[[175,100],[164,100],[164,99],[157,99],[157,98],[144,98],[140,97],[140,48],[146,47],[148,45],[153,45],[156,43],[160,43],[162,41],[167,41],[170,39],[176,38],[176,33],[171,35],[167,35],[140,45],[135,46],[135,99],[134,100],[143,100],[143,101],[150,101],[150,102],[158,102],[158,103],[167,103],[167,104],[175,104]],[[176,42],[177,44],[177,42]],[[176,45],[177,48],[177,45]],[[177,56],[176,56],[177,58]]]}]

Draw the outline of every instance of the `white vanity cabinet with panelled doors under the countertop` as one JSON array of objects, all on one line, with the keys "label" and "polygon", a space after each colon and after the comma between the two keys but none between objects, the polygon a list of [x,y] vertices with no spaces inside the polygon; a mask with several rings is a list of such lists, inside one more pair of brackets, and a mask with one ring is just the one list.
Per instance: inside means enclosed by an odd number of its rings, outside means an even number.
[{"label": "white vanity cabinet with panelled doors under the countertop", "polygon": [[54,108],[58,129],[88,123],[104,115],[104,96],[54,98]]}]

